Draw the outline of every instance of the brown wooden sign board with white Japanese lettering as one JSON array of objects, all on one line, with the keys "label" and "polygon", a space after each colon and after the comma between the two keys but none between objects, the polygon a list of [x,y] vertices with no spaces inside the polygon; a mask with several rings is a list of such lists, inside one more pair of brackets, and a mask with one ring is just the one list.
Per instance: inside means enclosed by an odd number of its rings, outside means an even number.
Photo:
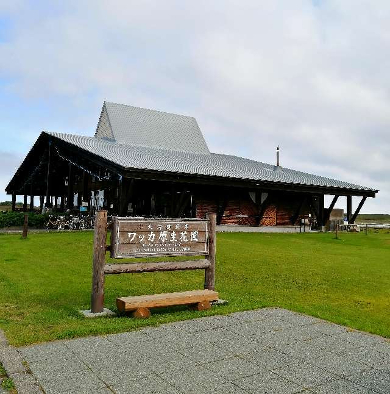
[{"label": "brown wooden sign board with white Japanese lettering", "polygon": [[116,217],[111,258],[208,254],[208,220]]}]

